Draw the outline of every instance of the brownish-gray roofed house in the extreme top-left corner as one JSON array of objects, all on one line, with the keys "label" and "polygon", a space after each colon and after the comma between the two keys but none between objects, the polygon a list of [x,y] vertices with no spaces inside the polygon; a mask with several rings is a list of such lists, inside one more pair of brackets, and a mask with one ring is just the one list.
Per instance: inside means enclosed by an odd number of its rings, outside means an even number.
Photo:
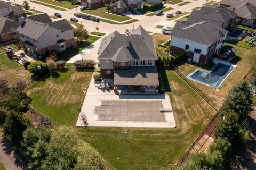
[{"label": "brownish-gray roofed house in the extreme top-left corner", "polygon": [[0,16],[15,17],[18,19],[19,16],[26,17],[26,12],[21,6],[10,6],[9,3],[0,3]]}]

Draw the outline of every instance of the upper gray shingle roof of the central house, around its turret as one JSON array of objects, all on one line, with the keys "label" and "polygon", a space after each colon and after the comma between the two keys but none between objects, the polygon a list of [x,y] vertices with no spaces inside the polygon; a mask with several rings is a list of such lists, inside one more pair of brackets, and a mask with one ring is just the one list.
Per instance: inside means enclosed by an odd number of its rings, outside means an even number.
[{"label": "upper gray shingle roof of the central house, around its turret", "polygon": [[153,38],[141,26],[130,33],[129,41],[130,46],[127,47],[125,34],[118,31],[110,33],[101,41],[98,59],[111,59],[121,47],[134,59],[157,59]]}]

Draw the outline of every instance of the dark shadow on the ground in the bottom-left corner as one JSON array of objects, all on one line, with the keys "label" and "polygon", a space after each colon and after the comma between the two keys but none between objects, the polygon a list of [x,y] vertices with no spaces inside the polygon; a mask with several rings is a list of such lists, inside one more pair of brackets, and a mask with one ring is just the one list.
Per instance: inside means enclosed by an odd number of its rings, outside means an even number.
[{"label": "dark shadow on the ground in the bottom-left corner", "polygon": [[10,144],[7,142],[5,138],[2,138],[1,140],[1,146],[3,148],[3,152],[6,155],[11,155],[13,154],[13,159],[14,159],[14,164],[17,167],[20,167],[21,169],[27,170],[27,163],[25,163],[25,160],[21,158],[21,154],[18,153],[18,149],[14,149],[13,147],[10,146]]}]

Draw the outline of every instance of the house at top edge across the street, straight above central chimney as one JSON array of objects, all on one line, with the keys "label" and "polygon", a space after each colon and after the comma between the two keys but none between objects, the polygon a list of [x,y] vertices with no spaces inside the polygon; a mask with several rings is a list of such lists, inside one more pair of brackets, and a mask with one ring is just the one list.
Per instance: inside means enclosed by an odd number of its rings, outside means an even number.
[{"label": "house at top edge across the street, straight above central chimney", "polygon": [[113,14],[121,15],[123,13],[140,10],[142,0],[119,0],[110,5],[110,12]]}]

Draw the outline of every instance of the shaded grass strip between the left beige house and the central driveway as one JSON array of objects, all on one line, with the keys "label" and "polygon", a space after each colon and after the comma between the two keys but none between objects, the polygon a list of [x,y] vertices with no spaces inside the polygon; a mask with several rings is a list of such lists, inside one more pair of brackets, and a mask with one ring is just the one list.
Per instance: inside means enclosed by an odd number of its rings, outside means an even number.
[{"label": "shaded grass strip between the left beige house and the central driveway", "polygon": [[71,57],[77,55],[79,51],[83,50],[87,46],[93,44],[95,41],[100,39],[100,37],[91,36],[83,45],[76,47],[76,48],[70,48],[66,50],[65,52],[57,53],[58,60],[66,60],[68,61]]}]

